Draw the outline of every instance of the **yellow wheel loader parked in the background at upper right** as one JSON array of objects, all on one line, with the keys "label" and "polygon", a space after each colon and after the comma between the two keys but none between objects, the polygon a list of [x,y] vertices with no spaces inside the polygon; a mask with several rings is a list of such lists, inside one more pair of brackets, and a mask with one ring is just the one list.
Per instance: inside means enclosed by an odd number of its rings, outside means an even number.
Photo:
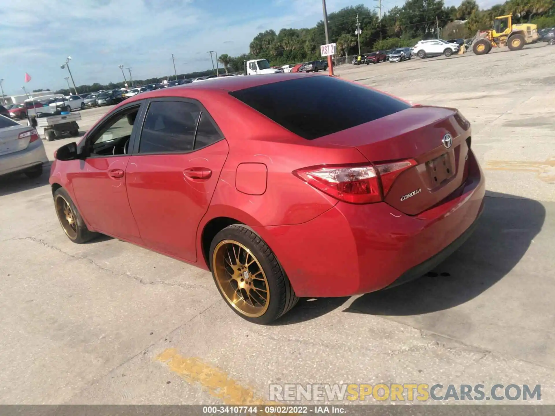
[{"label": "yellow wheel loader parked in the background at upper right", "polygon": [[539,40],[538,27],[531,23],[512,24],[512,14],[496,17],[493,21],[493,29],[485,34],[476,34],[476,42],[472,50],[476,55],[485,55],[492,48],[507,46],[511,50],[520,50],[527,43]]}]

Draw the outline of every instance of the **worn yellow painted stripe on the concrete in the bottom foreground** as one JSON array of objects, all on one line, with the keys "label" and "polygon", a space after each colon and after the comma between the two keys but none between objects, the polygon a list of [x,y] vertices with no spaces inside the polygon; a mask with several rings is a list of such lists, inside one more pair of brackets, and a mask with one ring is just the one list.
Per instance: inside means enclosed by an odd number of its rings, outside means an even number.
[{"label": "worn yellow painted stripe on the concrete in the bottom foreground", "polygon": [[156,359],[165,363],[170,371],[190,384],[199,383],[210,395],[223,400],[224,404],[255,405],[271,404],[257,397],[254,388],[241,385],[219,368],[210,366],[199,358],[183,357],[175,348],[168,348]]}]

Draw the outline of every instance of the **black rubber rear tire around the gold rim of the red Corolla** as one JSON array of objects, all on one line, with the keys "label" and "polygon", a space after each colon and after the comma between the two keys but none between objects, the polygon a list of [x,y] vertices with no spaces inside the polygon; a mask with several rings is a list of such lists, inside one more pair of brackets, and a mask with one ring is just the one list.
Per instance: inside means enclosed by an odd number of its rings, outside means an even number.
[{"label": "black rubber rear tire around the gold rim of the red Corolla", "polygon": [[[216,276],[217,272],[215,271],[217,266],[215,267],[214,265],[214,262],[217,261],[215,250],[216,247],[218,247],[218,250],[222,250],[221,245],[224,242],[229,241],[238,242],[240,245],[246,247],[251,252],[250,255],[254,256],[254,258],[258,261],[264,272],[263,274],[268,282],[267,288],[269,301],[268,305],[266,305],[265,311],[260,316],[248,316],[245,312],[240,311],[237,306],[232,305],[218,283],[218,277]],[[281,268],[278,259],[270,250],[270,247],[268,247],[264,240],[262,240],[253,230],[245,225],[230,225],[216,234],[210,244],[210,270],[212,271],[214,283],[218,288],[221,297],[223,297],[224,301],[228,304],[231,310],[249,322],[269,324],[275,321],[275,319],[283,316],[286,312],[289,312],[291,308],[296,305],[297,301],[299,301],[299,298],[295,295],[289,279],[285,275],[284,270]]]}]

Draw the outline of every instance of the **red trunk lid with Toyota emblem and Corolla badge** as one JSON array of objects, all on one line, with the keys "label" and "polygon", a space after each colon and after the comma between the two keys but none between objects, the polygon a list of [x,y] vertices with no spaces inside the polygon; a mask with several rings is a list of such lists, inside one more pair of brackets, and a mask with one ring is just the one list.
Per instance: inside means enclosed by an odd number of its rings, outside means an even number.
[{"label": "red trunk lid with Toyota emblem and Corolla badge", "polygon": [[[416,165],[397,177],[384,199],[405,214],[417,215],[448,197],[466,179],[470,129],[465,130],[457,118],[455,109],[414,106],[321,139],[354,146],[373,163],[415,160]],[[451,136],[449,146],[442,141],[446,135]]]}]

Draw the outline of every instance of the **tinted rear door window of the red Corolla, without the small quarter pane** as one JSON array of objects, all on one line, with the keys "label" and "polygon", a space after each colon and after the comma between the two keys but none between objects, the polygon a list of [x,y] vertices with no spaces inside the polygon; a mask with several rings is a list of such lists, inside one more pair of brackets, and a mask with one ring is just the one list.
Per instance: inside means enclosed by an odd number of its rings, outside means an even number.
[{"label": "tinted rear door window of the red Corolla, without the small quarter pane", "polygon": [[193,150],[200,109],[193,103],[155,101],[150,104],[140,136],[139,153]]}]

